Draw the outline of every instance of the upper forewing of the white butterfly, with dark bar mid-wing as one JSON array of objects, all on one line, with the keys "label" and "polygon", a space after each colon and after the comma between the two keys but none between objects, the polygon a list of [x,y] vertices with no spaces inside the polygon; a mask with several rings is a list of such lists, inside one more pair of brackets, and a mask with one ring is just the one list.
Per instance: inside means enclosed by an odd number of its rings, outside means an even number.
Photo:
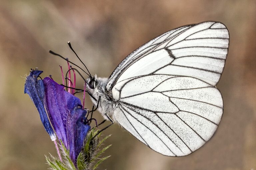
[{"label": "upper forewing of the white butterfly, with dark bar mid-wing", "polygon": [[107,84],[147,74],[195,77],[215,86],[224,68],[229,33],[219,22],[203,22],[166,32],[127,56]]}]

